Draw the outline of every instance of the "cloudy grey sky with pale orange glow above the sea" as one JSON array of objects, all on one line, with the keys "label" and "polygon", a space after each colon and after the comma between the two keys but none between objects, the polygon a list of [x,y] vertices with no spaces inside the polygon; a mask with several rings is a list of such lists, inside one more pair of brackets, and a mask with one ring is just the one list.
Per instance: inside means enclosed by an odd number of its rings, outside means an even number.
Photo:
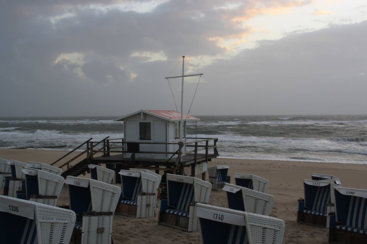
[{"label": "cloudy grey sky with pale orange glow above the sea", "polygon": [[0,0],[0,117],[367,114],[365,0]]}]

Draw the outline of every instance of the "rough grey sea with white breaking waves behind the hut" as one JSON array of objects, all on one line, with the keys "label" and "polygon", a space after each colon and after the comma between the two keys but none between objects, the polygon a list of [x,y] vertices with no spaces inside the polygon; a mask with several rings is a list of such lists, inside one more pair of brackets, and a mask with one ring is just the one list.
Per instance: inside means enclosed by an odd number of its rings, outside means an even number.
[{"label": "rough grey sea with white breaking waves behind the hut", "polygon": [[[367,164],[367,115],[195,117],[187,137],[218,138],[221,158]],[[117,119],[0,117],[0,148],[71,151],[89,138],[123,138]]]}]

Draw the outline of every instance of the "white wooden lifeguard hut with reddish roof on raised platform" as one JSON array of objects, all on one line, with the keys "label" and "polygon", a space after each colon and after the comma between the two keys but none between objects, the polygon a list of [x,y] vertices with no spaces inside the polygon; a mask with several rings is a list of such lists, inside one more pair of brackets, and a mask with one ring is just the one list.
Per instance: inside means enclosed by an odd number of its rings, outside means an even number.
[{"label": "white wooden lifeguard hut with reddish roof on raised platform", "polygon": [[[200,119],[182,114],[182,141],[186,142],[186,121]],[[180,140],[181,113],[174,110],[139,110],[128,114],[118,121],[124,121],[124,141],[127,153],[124,157],[135,152],[136,158],[168,159],[172,154],[146,154],[139,152],[175,152]],[[147,144],[148,143],[148,144]],[[163,143],[163,144],[161,144]],[[183,152],[186,151],[184,146]],[[176,155],[175,155],[176,156]]]}]

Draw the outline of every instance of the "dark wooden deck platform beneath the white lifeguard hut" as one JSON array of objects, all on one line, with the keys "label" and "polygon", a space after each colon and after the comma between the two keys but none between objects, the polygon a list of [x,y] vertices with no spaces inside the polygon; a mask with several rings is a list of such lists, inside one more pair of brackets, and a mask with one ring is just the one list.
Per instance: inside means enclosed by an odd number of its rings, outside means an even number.
[{"label": "dark wooden deck platform beneath the white lifeguard hut", "polygon": [[[218,154],[197,154],[196,163],[206,163],[211,161],[212,158],[217,158]],[[176,158],[172,158],[167,161],[167,159],[152,159],[152,158],[135,158],[134,162],[130,162],[130,158],[124,158],[123,154],[110,155],[110,156],[99,156],[94,157],[94,163],[106,163],[106,164],[125,164],[126,166],[142,166],[142,167],[188,167],[189,165],[195,163],[195,154],[187,154],[182,157],[182,164],[175,165]]]}]

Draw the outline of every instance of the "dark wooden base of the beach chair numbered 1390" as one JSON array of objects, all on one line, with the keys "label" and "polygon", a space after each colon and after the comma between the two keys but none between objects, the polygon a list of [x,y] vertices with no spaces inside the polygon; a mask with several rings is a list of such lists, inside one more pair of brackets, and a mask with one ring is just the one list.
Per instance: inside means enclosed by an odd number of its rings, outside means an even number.
[{"label": "dark wooden base of the beach chair numbered 1390", "polygon": [[366,244],[367,235],[340,229],[329,229],[329,243]]}]

